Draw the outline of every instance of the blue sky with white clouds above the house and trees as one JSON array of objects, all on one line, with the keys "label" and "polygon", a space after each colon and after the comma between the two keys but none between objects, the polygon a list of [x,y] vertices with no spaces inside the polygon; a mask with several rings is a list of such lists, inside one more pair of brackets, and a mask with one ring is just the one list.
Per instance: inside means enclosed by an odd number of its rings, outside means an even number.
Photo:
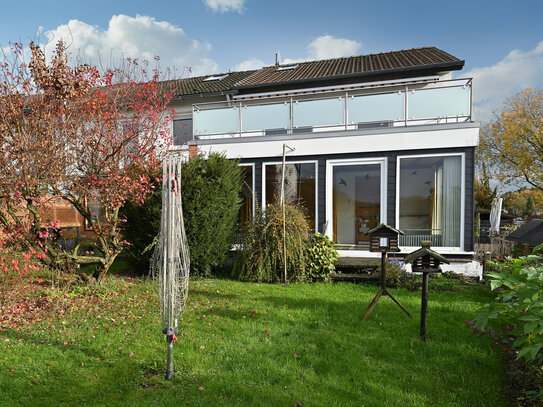
[{"label": "blue sky with white clouds above the house and trees", "polygon": [[0,47],[62,38],[74,60],[131,57],[178,77],[436,46],[465,60],[475,120],[543,87],[543,1],[0,0]]}]

